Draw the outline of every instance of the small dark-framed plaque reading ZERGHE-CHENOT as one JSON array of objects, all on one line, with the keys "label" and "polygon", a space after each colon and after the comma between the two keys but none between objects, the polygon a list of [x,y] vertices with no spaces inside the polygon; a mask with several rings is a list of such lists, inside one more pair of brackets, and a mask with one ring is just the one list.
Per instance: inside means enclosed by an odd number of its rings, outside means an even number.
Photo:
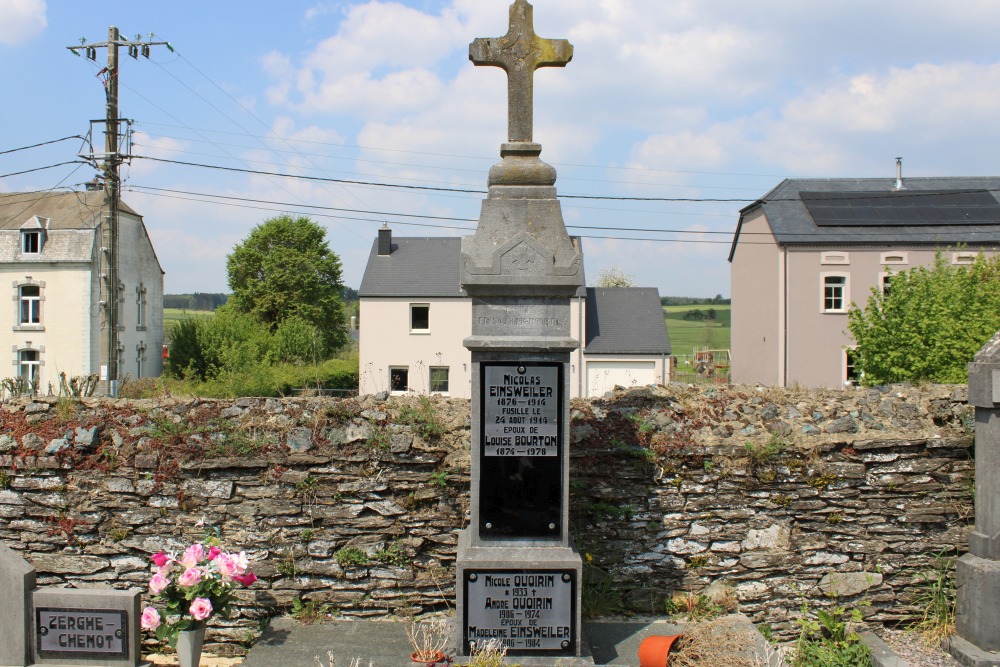
[{"label": "small dark-framed plaque reading ZERGHE-CHENOT", "polygon": [[40,658],[128,657],[128,615],[108,609],[35,608]]}]

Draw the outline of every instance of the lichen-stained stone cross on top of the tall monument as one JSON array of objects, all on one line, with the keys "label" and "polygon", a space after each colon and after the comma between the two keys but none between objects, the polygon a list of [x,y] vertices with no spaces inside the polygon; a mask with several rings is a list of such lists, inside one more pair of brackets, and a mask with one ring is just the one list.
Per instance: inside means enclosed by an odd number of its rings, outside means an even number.
[{"label": "lichen-stained stone cross on top of the tall monument", "polygon": [[534,9],[527,0],[510,6],[510,29],[503,37],[480,37],[469,45],[475,65],[507,72],[508,141],[531,141],[534,77],[539,67],[565,67],[573,59],[573,45],[565,39],[535,34]]}]

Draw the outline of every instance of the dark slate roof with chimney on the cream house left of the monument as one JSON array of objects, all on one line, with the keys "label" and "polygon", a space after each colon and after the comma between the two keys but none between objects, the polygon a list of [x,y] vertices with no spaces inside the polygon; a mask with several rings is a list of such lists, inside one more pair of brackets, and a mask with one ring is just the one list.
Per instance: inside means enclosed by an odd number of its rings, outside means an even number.
[{"label": "dark slate roof with chimney on the cream house left of the monument", "polygon": [[392,252],[372,243],[358,295],[363,297],[464,297],[460,287],[462,239],[393,237]]}]

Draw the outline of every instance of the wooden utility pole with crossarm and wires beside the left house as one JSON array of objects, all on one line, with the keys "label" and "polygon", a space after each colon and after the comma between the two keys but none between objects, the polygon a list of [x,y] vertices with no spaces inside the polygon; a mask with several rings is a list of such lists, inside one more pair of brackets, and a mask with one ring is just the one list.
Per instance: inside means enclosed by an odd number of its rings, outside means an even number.
[{"label": "wooden utility pole with crossarm and wires beside the left house", "polygon": [[[150,38],[153,35],[150,34]],[[79,46],[67,46],[73,55],[85,55],[89,60],[97,60],[97,49],[106,48],[108,50],[108,66],[102,70],[101,74],[106,75],[104,79],[105,96],[107,104],[104,116],[104,154],[102,156],[101,169],[104,172],[104,210],[105,219],[101,225],[101,294],[100,306],[103,315],[101,323],[101,344],[100,344],[100,379],[101,389],[107,396],[118,395],[119,381],[119,277],[118,277],[118,208],[121,201],[121,181],[118,176],[118,168],[122,162],[131,158],[128,151],[122,152],[121,143],[121,123],[130,123],[127,119],[118,117],[118,49],[121,46],[128,47],[129,55],[138,59],[140,51],[142,55],[149,58],[149,47],[163,45],[171,51],[174,48],[168,42],[143,41],[141,35],[137,35],[135,40],[128,40],[121,36],[118,28],[111,26],[108,28],[108,41],[87,43],[81,39]],[[91,132],[93,125],[101,121],[91,121]],[[91,149],[93,150],[93,149]],[[96,161],[97,155],[91,153],[89,157]]]}]

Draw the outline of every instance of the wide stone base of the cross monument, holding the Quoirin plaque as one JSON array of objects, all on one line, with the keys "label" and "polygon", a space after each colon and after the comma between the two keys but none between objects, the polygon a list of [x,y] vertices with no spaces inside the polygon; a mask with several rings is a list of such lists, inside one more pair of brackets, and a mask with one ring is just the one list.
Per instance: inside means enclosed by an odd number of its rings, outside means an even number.
[{"label": "wide stone base of the cross monument, holding the Quoirin plaque", "polygon": [[575,549],[527,540],[473,546],[467,529],[457,569],[456,653],[497,639],[511,656],[583,656],[583,561]]}]

